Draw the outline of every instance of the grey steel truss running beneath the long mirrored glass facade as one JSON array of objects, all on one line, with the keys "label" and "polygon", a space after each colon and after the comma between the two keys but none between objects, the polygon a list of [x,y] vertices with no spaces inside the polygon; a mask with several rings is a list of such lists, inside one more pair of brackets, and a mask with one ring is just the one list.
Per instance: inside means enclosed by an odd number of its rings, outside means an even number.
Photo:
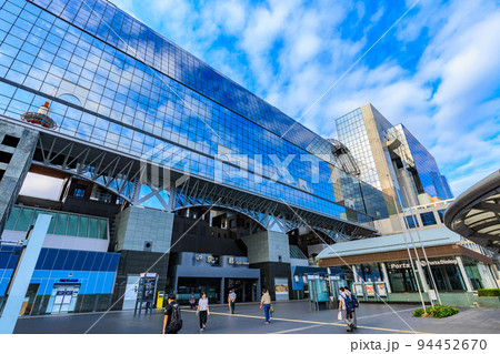
[{"label": "grey steel truss running beneath the long mirrored glass facade", "polygon": [[[167,170],[133,156],[80,141],[40,133],[33,163],[90,180],[131,204],[158,199],[169,212],[193,206],[214,206],[249,216],[270,231],[287,233],[298,227],[321,231],[334,242],[376,235],[371,226],[289,205],[284,201],[202,180],[182,171]],[[161,175],[161,178],[158,178]],[[151,190],[141,195],[141,186]]]}]

